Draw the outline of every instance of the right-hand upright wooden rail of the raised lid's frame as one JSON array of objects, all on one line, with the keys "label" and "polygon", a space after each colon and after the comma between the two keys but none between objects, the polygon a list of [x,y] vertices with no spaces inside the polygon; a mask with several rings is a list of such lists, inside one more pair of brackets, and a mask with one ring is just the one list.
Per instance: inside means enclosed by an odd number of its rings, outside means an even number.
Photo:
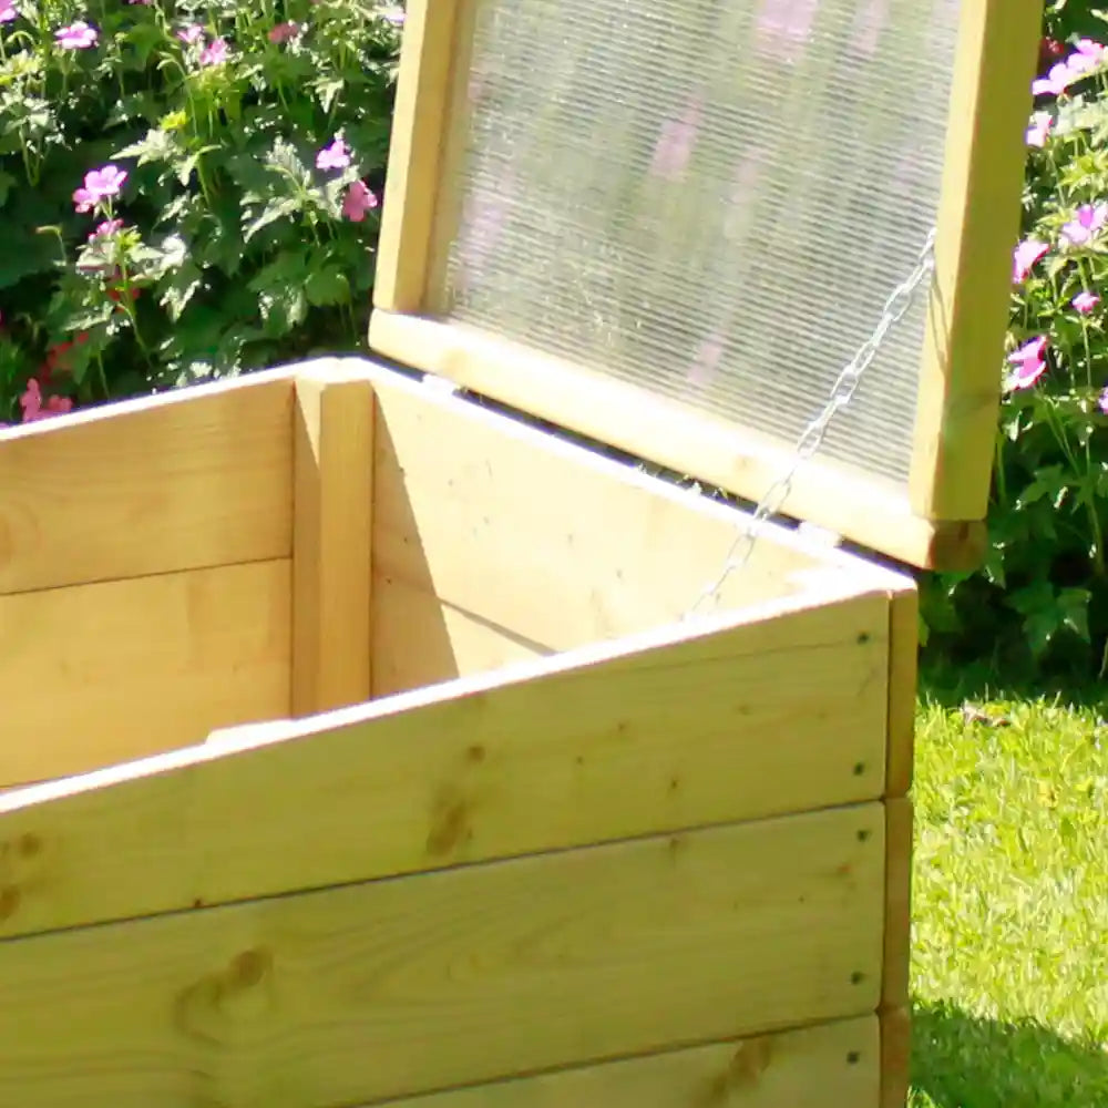
[{"label": "right-hand upright wooden rail of the raised lid's frame", "polygon": [[962,4],[910,480],[932,519],[988,507],[1042,20],[1042,0]]}]

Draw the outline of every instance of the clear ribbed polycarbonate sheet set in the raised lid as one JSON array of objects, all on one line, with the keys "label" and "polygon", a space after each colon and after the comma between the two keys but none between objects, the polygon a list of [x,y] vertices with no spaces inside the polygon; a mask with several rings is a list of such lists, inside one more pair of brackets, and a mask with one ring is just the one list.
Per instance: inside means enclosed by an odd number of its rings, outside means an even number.
[{"label": "clear ribbed polycarbonate sheet set in the raised lid", "polygon": [[[935,222],[958,9],[475,0],[448,316],[791,444]],[[896,482],[925,301],[824,445]]]}]

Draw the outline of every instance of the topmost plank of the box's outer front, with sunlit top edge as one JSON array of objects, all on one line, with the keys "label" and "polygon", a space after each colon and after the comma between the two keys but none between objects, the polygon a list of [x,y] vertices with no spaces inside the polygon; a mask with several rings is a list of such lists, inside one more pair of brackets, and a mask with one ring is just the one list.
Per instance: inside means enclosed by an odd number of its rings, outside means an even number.
[{"label": "topmost plank of the box's outer front, with sunlit top edge", "polygon": [[10,793],[0,935],[876,799],[888,628],[781,601]]}]

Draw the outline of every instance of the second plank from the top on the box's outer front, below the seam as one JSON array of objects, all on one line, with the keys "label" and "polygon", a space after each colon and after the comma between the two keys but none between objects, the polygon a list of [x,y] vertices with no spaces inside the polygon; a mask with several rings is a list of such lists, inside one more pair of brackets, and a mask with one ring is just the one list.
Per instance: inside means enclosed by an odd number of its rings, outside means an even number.
[{"label": "second plank from the top on the box's outer front, below the seam", "polygon": [[0,1101],[324,1108],[866,1015],[883,838],[873,803],[0,943]]}]

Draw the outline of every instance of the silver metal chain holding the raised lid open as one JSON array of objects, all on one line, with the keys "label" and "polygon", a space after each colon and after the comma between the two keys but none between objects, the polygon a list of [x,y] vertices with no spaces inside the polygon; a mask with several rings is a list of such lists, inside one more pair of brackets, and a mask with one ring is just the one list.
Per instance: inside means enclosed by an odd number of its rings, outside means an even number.
[{"label": "silver metal chain holding the raised lid open", "polygon": [[839,375],[822,411],[804,428],[797,440],[789,469],[766,491],[753,514],[750,516],[749,524],[739,532],[731,544],[731,548],[727,552],[727,557],[719,574],[697,597],[696,602],[686,613],[686,618],[693,616],[705,601],[716,597],[728,577],[738,570],[741,570],[750,560],[762,525],[767,520],[780,512],[786,500],[789,497],[789,493],[792,491],[792,481],[797,475],[797,471],[823,444],[823,438],[831,425],[831,421],[853,400],[854,392],[861,383],[862,375],[870,368],[873,359],[878,356],[885,336],[904,318],[904,315],[915,300],[916,291],[931,276],[934,268],[935,230],[932,229],[927,235],[927,240],[924,243],[923,248],[920,250],[915,268],[913,268],[907,279],[893,290],[892,295],[885,301],[878,326]]}]

